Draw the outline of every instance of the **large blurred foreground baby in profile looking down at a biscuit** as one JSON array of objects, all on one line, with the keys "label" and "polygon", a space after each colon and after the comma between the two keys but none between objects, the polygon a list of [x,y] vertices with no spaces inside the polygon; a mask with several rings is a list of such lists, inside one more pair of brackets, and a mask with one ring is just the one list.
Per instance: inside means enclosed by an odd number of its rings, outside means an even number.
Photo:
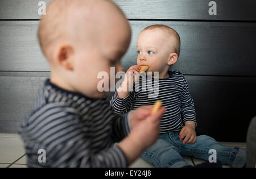
[{"label": "large blurred foreground baby in profile looking down at a biscuit", "polygon": [[164,108],[117,115],[97,90],[98,73],[122,70],[131,39],[113,2],[53,0],[38,37],[51,78],[19,129],[29,167],[123,167],[158,139]]}]

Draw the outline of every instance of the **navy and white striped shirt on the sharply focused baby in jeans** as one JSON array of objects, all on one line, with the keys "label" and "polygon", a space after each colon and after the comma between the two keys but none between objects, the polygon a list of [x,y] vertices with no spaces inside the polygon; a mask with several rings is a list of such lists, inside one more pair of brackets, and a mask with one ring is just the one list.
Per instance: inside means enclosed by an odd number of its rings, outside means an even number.
[{"label": "navy and white striped shirt on the sharply focused baby in jeans", "polygon": [[[151,77],[139,78],[139,85],[133,85],[133,91],[125,98],[119,98],[117,91],[110,104],[118,114],[137,109],[143,105],[154,105],[160,100],[166,107],[160,123],[160,133],[179,131],[184,123],[191,120],[196,123],[196,111],[189,94],[188,84],[179,71],[168,71],[170,77],[155,80]],[[158,89],[158,93],[152,89]]]}]

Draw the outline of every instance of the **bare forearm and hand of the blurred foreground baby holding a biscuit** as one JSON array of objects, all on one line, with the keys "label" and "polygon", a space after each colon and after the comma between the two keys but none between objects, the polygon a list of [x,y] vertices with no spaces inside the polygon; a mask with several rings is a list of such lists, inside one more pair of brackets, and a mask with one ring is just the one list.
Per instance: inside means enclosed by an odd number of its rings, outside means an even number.
[{"label": "bare forearm and hand of the blurred foreground baby holding a biscuit", "polygon": [[[165,110],[159,110],[159,108],[159,104],[155,105],[154,109],[153,106],[142,106],[137,110],[130,111],[129,115],[123,115],[124,119],[114,120],[113,136],[114,139],[118,139],[115,141],[119,141],[120,137],[128,134],[118,144],[125,153],[128,164],[137,159],[143,150],[157,139],[160,118]],[[127,124],[128,120],[132,122],[130,127]]]}]

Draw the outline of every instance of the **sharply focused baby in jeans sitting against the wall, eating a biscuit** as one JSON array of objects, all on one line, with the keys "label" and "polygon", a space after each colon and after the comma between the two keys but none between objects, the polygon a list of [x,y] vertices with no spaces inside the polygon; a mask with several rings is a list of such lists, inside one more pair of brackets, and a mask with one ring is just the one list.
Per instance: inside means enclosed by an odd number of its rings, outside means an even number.
[{"label": "sharply focused baby in jeans sitting against the wall, eating a biscuit", "polygon": [[[160,123],[159,139],[143,152],[142,158],[158,167],[191,167],[181,155],[208,161],[212,155],[209,151],[214,149],[220,163],[232,167],[245,165],[244,149],[226,147],[206,135],[196,136],[196,112],[187,81],[180,72],[168,70],[179,57],[179,34],[162,24],[146,27],[138,36],[137,52],[138,65],[127,70],[125,80],[110,103],[115,113],[123,114],[131,110],[131,115],[133,110],[152,105],[156,99],[166,107]],[[140,80],[139,85],[133,85],[129,73],[139,72],[141,65],[149,66],[147,73],[152,72],[152,75],[146,78],[146,84],[154,84],[154,88],[158,88],[158,95],[152,95],[150,88],[145,90],[146,86],[140,85],[142,78],[138,76],[134,79],[137,82]],[[158,76],[155,72],[158,72]],[[133,88],[123,87],[129,85],[133,85]]]}]

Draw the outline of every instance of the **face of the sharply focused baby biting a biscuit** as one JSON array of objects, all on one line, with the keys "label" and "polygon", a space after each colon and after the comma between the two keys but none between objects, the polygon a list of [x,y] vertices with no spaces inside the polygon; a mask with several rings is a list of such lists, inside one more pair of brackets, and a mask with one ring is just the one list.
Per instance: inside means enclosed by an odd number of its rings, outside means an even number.
[{"label": "face of the sharply focused baby biting a biscuit", "polygon": [[137,64],[148,65],[149,72],[163,72],[171,53],[167,40],[167,33],[158,28],[142,31],[137,39]]}]

